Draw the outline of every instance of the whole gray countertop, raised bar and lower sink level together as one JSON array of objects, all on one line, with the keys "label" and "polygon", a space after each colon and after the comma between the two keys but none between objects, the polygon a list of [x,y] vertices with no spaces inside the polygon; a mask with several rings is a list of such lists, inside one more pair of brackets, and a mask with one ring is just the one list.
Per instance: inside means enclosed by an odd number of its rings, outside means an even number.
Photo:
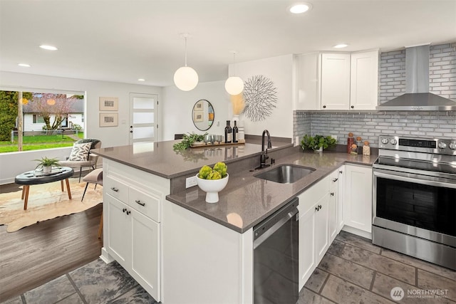
[{"label": "whole gray countertop, raised bar and lower sink level together", "polygon": [[[191,187],[166,198],[201,216],[227,226],[239,233],[244,233],[252,226],[266,219],[279,210],[296,195],[304,192],[312,184],[326,177],[344,163],[372,166],[377,155],[351,155],[345,152],[325,151],[323,153],[302,152],[291,147],[289,141],[273,141],[271,152],[282,151],[276,157],[276,164],[297,164],[313,167],[316,171],[299,179],[293,184],[279,184],[254,177],[249,167],[241,169],[233,164],[238,160],[255,157],[261,152],[258,140],[244,145],[214,146],[192,148],[175,152],[172,145],[180,142],[152,142],[121,147],[108,147],[91,152],[126,164],[151,174],[175,180],[196,174],[204,164],[226,162],[228,164],[229,182],[221,192],[217,203],[206,203],[206,193],[199,187]],[[261,142],[261,141],[260,141]],[[288,152],[289,151],[289,152]],[[230,165],[231,164],[231,165]],[[267,170],[270,168],[262,169]]]}]

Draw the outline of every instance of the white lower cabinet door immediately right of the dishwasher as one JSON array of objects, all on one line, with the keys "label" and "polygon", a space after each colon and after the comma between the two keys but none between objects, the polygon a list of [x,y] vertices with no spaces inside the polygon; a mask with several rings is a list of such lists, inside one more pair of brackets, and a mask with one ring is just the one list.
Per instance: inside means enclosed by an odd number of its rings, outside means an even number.
[{"label": "white lower cabinet door immediately right of the dishwasher", "polygon": [[[301,206],[301,205],[300,205]],[[315,211],[299,209],[299,290],[317,266],[315,250]]]}]

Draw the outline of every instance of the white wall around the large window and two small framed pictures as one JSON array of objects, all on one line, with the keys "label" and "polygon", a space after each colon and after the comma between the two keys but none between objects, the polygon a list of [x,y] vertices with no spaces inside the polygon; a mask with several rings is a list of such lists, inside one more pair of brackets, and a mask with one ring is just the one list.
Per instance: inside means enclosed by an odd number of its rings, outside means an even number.
[{"label": "white wall around the large window and two small framed pictures", "polygon": [[[73,78],[59,78],[42,75],[23,73],[11,73],[0,71],[0,88],[5,90],[19,90],[20,88],[35,88],[41,90],[69,90],[86,92],[86,115],[85,126],[87,138],[97,138],[103,142],[103,147],[128,145],[129,139],[129,94],[145,93],[162,95],[162,88],[148,85],[133,85],[128,83],[110,83],[97,80],[81,80]],[[118,127],[99,126],[99,103],[98,98],[119,98],[119,125]],[[160,113],[160,107],[159,107]],[[159,114],[159,117],[161,115]],[[160,124],[160,119],[159,119]],[[160,130],[160,127],[159,127]],[[158,134],[160,137],[160,133]],[[160,140],[160,138],[159,138]],[[38,150],[26,152],[11,152],[0,154],[0,184],[14,182],[16,175],[33,170],[36,162],[42,156],[66,159],[71,151],[70,148],[58,148],[52,150]]]}]

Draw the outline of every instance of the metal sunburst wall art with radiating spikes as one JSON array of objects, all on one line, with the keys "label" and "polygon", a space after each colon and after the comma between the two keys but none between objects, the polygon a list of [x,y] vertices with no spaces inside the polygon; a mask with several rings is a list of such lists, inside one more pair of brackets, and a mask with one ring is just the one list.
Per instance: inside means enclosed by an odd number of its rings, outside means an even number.
[{"label": "metal sunburst wall art with radiating spikes", "polygon": [[252,122],[265,120],[276,108],[277,88],[263,75],[255,75],[244,83],[244,115]]}]

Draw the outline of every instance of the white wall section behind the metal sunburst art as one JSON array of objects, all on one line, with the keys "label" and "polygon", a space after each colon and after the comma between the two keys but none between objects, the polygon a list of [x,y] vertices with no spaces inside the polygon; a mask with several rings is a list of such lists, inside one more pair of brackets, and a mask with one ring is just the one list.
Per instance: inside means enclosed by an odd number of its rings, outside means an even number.
[{"label": "white wall section behind the metal sunburst art", "polygon": [[[229,75],[232,75],[233,65],[229,65]],[[255,75],[264,75],[269,78],[277,89],[276,108],[266,120],[252,122],[244,115],[245,134],[261,135],[264,129],[269,130],[271,136],[293,137],[293,55],[277,56],[236,63],[235,73],[244,80],[244,83]]]}]

